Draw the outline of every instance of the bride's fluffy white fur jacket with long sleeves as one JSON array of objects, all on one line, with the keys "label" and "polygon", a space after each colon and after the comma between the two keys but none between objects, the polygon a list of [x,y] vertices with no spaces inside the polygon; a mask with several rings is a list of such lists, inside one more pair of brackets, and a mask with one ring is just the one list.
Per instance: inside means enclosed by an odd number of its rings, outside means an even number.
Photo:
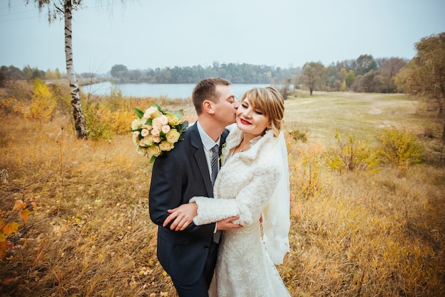
[{"label": "bride's fluffy white fur jacket with long sleeves", "polygon": [[252,139],[249,150],[233,155],[242,137],[243,132],[236,125],[231,127],[223,147],[223,166],[213,189],[215,198],[193,197],[190,200],[198,205],[198,215],[193,219],[196,225],[234,215],[240,215],[235,224],[259,223],[261,212],[280,178],[281,162],[273,153],[277,138],[269,130],[264,136]]}]

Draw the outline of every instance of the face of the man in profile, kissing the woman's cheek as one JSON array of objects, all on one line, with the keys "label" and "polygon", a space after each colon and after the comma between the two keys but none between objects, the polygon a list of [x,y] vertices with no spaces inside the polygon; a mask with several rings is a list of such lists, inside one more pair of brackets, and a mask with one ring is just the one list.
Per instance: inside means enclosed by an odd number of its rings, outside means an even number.
[{"label": "face of the man in profile, kissing the woman's cheek", "polygon": [[224,126],[235,123],[235,114],[240,105],[228,85],[216,86],[217,102],[213,105],[215,119]]}]

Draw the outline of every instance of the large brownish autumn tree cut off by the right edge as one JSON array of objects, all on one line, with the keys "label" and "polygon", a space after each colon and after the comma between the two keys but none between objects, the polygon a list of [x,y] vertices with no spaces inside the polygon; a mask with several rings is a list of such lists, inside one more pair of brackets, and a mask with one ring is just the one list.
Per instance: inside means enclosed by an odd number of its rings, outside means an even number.
[{"label": "large brownish autumn tree cut off by the right edge", "polygon": [[396,77],[397,87],[438,109],[439,118],[444,121],[445,144],[445,32],[422,38],[415,48],[417,55]]}]

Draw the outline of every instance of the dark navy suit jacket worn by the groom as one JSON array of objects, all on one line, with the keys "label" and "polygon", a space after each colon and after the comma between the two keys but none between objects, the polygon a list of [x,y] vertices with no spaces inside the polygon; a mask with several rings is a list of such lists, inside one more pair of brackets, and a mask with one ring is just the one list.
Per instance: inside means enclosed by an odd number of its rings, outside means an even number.
[{"label": "dark navy suit jacket worn by the groom", "polygon": [[[220,150],[228,131],[221,135]],[[151,220],[158,225],[158,259],[163,269],[183,284],[194,284],[203,271],[213,239],[215,223],[191,223],[183,231],[162,227],[168,209],[188,203],[193,196],[213,197],[203,143],[198,126],[183,132],[172,151],[154,161],[149,193]]]}]

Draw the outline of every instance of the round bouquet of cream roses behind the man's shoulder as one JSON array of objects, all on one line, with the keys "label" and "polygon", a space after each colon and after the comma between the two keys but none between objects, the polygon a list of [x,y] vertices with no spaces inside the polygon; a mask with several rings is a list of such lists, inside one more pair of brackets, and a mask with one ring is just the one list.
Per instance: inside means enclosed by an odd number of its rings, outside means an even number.
[{"label": "round bouquet of cream roses behind the man's shoulder", "polygon": [[145,112],[137,108],[134,112],[138,119],[132,121],[133,142],[137,152],[150,158],[150,163],[164,151],[171,151],[188,127],[188,121],[181,121],[182,110],[164,112],[158,104],[153,104]]}]

